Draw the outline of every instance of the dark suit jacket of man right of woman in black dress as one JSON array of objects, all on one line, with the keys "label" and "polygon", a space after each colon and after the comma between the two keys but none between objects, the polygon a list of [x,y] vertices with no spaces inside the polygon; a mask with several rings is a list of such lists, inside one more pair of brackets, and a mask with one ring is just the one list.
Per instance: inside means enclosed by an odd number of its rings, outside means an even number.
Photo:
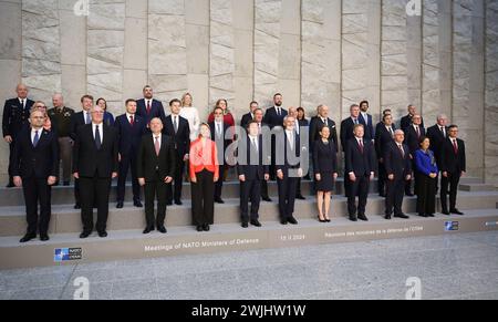
[{"label": "dark suit jacket of man right of woman in black dress", "polygon": [[363,139],[363,153],[360,144],[353,137],[346,143],[345,174],[354,173],[356,177],[370,176],[375,172],[375,148],[371,141]]}]

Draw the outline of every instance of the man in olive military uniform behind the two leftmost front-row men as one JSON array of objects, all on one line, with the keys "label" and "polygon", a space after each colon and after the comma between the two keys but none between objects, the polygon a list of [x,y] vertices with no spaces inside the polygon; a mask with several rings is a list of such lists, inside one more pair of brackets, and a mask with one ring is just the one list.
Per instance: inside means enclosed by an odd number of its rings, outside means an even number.
[{"label": "man in olive military uniform behind the two leftmost front-row men", "polygon": [[[62,160],[62,179],[64,186],[69,186],[71,181],[71,166],[73,154],[73,141],[71,139],[71,117],[74,110],[64,105],[64,97],[55,94],[52,97],[53,108],[49,110],[49,117],[55,127],[59,136],[60,160]],[[59,177],[59,176],[58,176]]]}]

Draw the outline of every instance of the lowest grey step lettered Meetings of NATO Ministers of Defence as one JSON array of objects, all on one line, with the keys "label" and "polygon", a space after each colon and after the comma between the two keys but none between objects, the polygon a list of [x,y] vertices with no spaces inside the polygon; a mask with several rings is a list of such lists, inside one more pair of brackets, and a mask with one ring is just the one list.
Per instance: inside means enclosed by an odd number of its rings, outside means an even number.
[{"label": "lowest grey step lettered Meetings of NATO Ministers of Defence", "polygon": [[[74,233],[52,235],[48,242],[19,243],[18,237],[0,238],[0,269],[52,267],[87,262],[164,258],[267,248],[289,248],[308,245],[369,241],[498,229],[498,209],[466,211],[466,216],[436,218],[412,217],[409,220],[385,220],[370,216],[369,222],[352,222],[333,218],[330,224],[301,219],[298,226],[264,221],[262,228],[242,229],[238,224],[212,226],[209,232],[191,227],[174,227],[167,235],[139,230],[110,231],[108,238],[92,236],[81,240]],[[393,241],[395,242],[395,241]],[[58,249],[71,249],[72,260],[56,261]],[[236,259],[235,259],[236,260]]]}]

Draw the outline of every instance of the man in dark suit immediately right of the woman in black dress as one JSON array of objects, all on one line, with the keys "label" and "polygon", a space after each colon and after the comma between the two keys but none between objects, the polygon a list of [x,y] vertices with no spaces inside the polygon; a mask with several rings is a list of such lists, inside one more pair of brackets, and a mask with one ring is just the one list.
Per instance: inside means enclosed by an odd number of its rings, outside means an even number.
[{"label": "man in dark suit immediately right of the woman in black dress", "polygon": [[[375,175],[375,147],[364,139],[363,124],[353,128],[353,137],[346,143],[344,180],[347,180],[347,212],[351,221],[367,221],[365,216],[370,181]],[[359,205],[356,207],[356,196]],[[357,214],[357,216],[356,216]]]}]

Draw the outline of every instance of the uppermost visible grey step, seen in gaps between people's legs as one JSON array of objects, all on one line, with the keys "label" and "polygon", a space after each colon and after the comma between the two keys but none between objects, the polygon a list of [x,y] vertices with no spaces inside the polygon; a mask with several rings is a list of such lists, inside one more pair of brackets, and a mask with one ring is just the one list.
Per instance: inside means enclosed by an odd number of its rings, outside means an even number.
[{"label": "uppermost visible grey step, seen in gaps between people's legs", "polygon": [[[114,202],[116,200],[116,184],[113,183],[113,188],[111,189],[110,200]],[[311,194],[311,181],[302,180],[301,190],[304,196],[310,196]],[[336,181],[338,194],[343,194],[344,191],[344,180],[342,178]],[[239,198],[240,183],[238,181],[227,181],[224,184],[222,197],[224,198]],[[278,188],[276,181],[268,183],[268,191],[270,197],[278,196]],[[370,185],[370,191],[372,194],[377,191],[376,180]],[[143,196],[143,193],[142,193]],[[183,200],[190,199],[190,184],[184,184],[181,190]],[[133,199],[132,185],[126,185],[125,200],[131,201]],[[52,205],[68,205],[74,201],[74,187],[63,187],[58,186],[52,189]],[[3,206],[23,206],[24,196],[21,188],[0,188],[0,207]]]}]

